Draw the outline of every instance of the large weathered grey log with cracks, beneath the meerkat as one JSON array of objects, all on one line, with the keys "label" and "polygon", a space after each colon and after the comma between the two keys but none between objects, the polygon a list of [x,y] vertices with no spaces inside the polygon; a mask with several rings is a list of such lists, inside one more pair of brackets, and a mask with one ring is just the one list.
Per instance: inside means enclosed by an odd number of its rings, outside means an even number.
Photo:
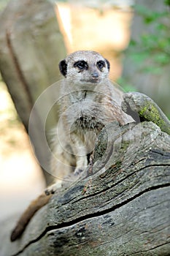
[{"label": "large weathered grey log with cracks, beneath the meerkat", "polygon": [[39,210],[17,241],[1,227],[0,252],[14,255],[169,255],[170,137],[152,122],[108,124],[93,165]]}]

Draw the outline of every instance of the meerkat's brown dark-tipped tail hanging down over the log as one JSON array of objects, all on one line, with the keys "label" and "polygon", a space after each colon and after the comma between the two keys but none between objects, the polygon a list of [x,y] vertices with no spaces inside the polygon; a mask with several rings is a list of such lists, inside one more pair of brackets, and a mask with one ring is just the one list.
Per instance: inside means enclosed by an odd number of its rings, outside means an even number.
[{"label": "meerkat's brown dark-tipped tail hanging down over the log", "polygon": [[10,237],[11,241],[15,241],[22,235],[30,219],[34,216],[36,211],[38,211],[40,208],[42,208],[42,206],[45,206],[49,202],[51,196],[51,194],[42,194],[31,202],[26,211],[24,211],[24,213],[21,215],[14,230],[12,230]]}]

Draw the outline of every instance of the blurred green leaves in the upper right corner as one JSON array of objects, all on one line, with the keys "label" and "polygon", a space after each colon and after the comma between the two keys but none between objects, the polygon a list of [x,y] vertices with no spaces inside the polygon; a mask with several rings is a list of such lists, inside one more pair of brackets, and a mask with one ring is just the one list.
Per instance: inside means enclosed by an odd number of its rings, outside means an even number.
[{"label": "blurred green leaves in the upper right corner", "polygon": [[134,11],[142,18],[146,29],[139,39],[131,39],[125,54],[128,54],[141,72],[159,75],[162,67],[170,63],[170,1],[164,1],[164,4],[166,11],[155,11],[154,8],[151,10],[144,5],[134,6]]}]

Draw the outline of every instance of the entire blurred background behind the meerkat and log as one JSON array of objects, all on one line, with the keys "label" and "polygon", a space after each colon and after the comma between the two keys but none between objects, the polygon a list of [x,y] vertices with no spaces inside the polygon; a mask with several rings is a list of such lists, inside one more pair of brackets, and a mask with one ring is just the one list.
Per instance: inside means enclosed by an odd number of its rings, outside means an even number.
[{"label": "entire blurred background behind the meerkat and log", "polygon": [[[147,94],[170,118],[169,5],[169,0],[0,1],[0,220],[23,211],[50,184],[36,160],[49,161],[39,132],[43,110],[37,110],[31,140],[28,120],[42,91],[61,79],[58,62],[66,54],[98,51],[111,63],[111,80],[124,91]],[[57,110],[50,113],[47,131],[57,118]]]}]

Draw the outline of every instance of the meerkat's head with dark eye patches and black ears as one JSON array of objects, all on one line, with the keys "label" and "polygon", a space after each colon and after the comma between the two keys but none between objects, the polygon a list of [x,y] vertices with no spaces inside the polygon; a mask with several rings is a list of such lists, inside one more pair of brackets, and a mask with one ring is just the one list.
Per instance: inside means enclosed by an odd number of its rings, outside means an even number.
[{"label": "meerkat's head with dark eye patches and black ears", "polygon": [[60,62],[59,68],[65,78],[77,84],[97,85],[109,75],[109,61],[91,50],[70,54]]}]

